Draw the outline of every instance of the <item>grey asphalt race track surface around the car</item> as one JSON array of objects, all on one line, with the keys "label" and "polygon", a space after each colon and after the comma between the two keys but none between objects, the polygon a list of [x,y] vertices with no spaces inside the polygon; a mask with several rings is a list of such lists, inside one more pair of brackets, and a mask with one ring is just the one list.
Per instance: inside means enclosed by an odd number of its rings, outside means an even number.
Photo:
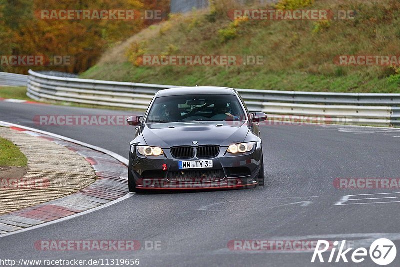
[{"label": "grey asphalt race track surface around the car", "polygon": [[[33,122],[35,115],[62,114],[129,112],[0,102],[2,121],[60,134],[128,156],[134,127],[40,126]],[[346,239],[358,246],[365,244],[369,249],[368,242],[386,237],[400,249],[399,189],[350,190],[333,186],[337,177],[399,177],[399,131],[338,125],[271,125],[263,126],[261,131],[264,187],[134,194],[71,220],[0,237],[0,258],[138,258],[140,266],[298,267],[319,264],[310,263],[309,251],[232,251],[228,242]],[[357,194],[362,196],[342,199]],[[377,197],[378,200],[370,199]],[[345,205],[337,205],[340,203]],[[34,247],[38,240],[148,240],[160,241],[161,249],[40,251]],[[328,257],[324,254],[325,261]],[[347,256],[349,260],[350,257]],[[334,265],[354,263],[340,261]],[[369,257],[358,265],[377,266]],[[400,265],[398,256],[391,265]]]}]

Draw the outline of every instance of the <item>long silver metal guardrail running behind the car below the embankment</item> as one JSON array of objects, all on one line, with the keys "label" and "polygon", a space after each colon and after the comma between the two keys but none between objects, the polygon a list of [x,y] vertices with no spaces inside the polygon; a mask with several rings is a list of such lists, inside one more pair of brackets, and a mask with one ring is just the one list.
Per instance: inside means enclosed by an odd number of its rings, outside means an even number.
[{"label": "long silver metal guardrail running behind the car below the embankment", "polygon": [[[29,70],[27,95],[35,100],[145,110],[158,90],[172,87],[179,86],[68,78]],[[400,125],[400,94],[237,91],[250,111],[263,111],[270,118],[296,115],[316,122]]]}]

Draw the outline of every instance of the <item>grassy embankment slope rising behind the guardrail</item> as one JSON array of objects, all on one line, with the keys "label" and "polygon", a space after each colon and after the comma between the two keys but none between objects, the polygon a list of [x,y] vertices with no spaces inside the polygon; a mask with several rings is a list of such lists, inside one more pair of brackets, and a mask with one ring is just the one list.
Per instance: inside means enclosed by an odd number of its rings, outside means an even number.
[{"label": "grassy embankment slope rising behind the guardrail", "polygon": [[[333,62],[338,55],[400,54],[398,1],[316,0],[306,7],[356,10],[352,20],[328,21],[232,21],[228,10],[242,7],[226,2],[218,1],[211,11],[173,15],[150,26],[106,52],[81,77],[271,90],[400,92],[400,68]],[[262,55],[264,64],[142,66],[142,55]]]}]

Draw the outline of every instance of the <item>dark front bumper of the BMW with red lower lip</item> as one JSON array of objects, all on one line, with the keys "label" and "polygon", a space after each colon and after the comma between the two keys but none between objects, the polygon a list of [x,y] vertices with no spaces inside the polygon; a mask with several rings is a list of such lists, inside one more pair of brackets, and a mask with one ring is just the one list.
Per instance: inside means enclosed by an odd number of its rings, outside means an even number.
[{"label": "dark front bumper of the BMW with red lower lip", "polygon": [[[245,153],[230,154],[226,150],[227,147],[221,147],[219,154],[210,158],[213,161],[212,168],[182,170],[178,167],[178,162],[182,160],[173,158],[169,149],[163,149],[164,155],[161,156],[143,156],[132,146],[129,172],[137,189],[224,189],[255,186],[262,166],[261,143],[256,142],[254,148]],[[205,159],[194,157],[188,160]],[[167,170],[163,171],[164,164]],[[190,177],[193,171],[196,172],[196,177]],[[214,173],[211,178],[208,177],[209,171],[217,171],[218,176]],[[203,172],[201,177],[198,172]],[[184,178],[175,176],[180,173]]]}]

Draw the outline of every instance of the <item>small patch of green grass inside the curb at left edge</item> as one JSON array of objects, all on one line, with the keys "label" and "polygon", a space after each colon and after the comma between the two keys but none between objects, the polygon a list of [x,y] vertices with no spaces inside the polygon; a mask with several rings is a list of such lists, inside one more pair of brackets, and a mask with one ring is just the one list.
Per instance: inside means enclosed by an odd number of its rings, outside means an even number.
[{"label": "small patch of green grass inside the curb at left edge", "polygon": [[27,166],[26,156],[7,139],[0,137],[0,166]]}]

